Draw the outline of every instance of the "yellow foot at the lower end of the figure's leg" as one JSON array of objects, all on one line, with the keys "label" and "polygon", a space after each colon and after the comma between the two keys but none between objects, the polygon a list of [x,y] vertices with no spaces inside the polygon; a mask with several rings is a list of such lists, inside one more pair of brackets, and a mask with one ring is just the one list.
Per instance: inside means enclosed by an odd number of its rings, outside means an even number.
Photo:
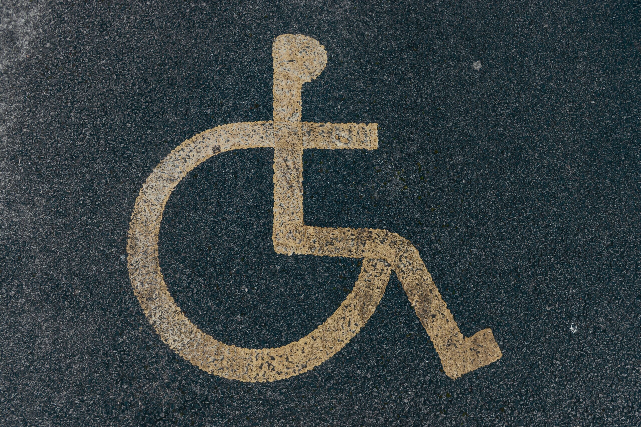
[{"label": "yellow foot at the lower end of the figure's leg", "polygon": [[489,365],[501,359],[503,353],[494,339],[491,329],[483,329],[469,338],[463,338],[463,343],[452,345],[447,355],[440,355],[445,375],[453,380],[474,371],[479,367]]}]

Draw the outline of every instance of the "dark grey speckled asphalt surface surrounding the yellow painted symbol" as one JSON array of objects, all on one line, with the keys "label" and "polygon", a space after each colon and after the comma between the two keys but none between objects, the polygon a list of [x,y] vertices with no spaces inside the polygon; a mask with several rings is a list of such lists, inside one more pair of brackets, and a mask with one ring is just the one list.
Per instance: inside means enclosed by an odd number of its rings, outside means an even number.
[{"label": "dark grey speckled asphalt surface surrounding the yellow painted symbol", "polygon": [[[640,4],[529,3],[4,0],[0,424],[641,425]],[[395,277],[344,350],[275,383],[199,371],[147,323],[138,190],[185,138],[271,120],[282,33],[328,51],[304,120],[381,128],[378,151],[306,151],[306,223],[410,239],[499,362],[447,378]],[[199,166],[161,228],[172,295],[239,346],[307,334],[358,274],[274,253],[271,157]]]}]

